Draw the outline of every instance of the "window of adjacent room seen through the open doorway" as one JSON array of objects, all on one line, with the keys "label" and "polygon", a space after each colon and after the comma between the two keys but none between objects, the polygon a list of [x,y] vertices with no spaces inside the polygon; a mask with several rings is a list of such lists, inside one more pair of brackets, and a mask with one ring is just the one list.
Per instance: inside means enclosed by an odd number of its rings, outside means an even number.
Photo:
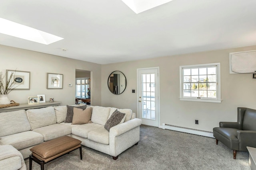
[{"label": "window of adjacent room seen through the open doorway", "polygon": [[88,78],[76,78],[76,97],[86,97],[89,87]]}]

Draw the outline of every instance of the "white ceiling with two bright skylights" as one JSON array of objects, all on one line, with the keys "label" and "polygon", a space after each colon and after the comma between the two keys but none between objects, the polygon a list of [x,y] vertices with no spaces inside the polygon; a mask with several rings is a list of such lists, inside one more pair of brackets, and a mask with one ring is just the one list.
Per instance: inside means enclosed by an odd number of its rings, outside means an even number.
[{"label": "white ceiling with two bright skylights", "polygon": [[98,64],[244,47],[256,45],[255,6],[172,0],[135,14],[122,0],[0,0],[0,18],[64,38],[44,45],[0,33],[0,44]]}]

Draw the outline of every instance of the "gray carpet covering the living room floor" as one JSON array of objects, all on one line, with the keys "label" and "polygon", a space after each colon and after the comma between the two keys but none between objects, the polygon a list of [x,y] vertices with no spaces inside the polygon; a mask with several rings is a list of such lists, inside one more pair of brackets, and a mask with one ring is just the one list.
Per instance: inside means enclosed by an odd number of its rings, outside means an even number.
[{"label": "gray carpet covering the living room floor", "polygon": [[[248,152],[233,151],[215,139],[158,127],[140,126],[140,142],[113,160],[112,156],[82,147],[48,164],[45,170],[250,170]],[[29,159],[25,160],[29,169]],[[33,162],[32,170],[40,170]]]}]

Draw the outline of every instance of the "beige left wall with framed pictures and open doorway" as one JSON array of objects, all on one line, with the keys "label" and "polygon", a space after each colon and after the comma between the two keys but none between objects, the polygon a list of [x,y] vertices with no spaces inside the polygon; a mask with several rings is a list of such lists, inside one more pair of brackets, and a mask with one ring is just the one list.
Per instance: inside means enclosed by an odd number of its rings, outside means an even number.
[{"label": "beige left wall with framed pictures and open doorway", "polygon": [[[8,95],[17,103],[27,103],[28,96],[45,94],[46,102],[53,97],[62,105],[74,104],[76,69],[80,69],[92,71],[91,104],[101,105],[100,64],[0,45],[0,72],[15,69],[30,72],[30,90],[12,90]],[[47,72],[63,74],[63,89],[46,89]],[[73,86],[68,87],[68,84]]]}]

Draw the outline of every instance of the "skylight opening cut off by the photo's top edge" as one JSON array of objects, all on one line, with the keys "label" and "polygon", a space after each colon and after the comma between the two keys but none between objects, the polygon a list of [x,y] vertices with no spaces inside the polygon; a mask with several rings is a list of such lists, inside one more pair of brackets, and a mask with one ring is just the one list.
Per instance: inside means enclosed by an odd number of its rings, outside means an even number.
[{"label": "skylight opening cut off by the photo's top edge", "polygon": [[122,0],[136,14],[160,6],[172,0]]}]

